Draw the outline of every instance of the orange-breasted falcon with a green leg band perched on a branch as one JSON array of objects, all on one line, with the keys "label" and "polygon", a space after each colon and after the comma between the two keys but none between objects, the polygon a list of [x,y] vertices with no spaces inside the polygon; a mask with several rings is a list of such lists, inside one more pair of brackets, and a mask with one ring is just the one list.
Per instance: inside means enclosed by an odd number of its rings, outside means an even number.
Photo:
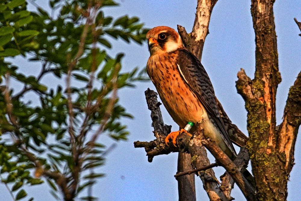
[{"label": "orange-breasted falcon with a green leg band perched on a branch", "polygon": [[240,146],[245,145],[247,137],[225,114],[201,62],[184,47],[179,34],[170,27],[154,27],[148,31],[146,38],[151,54],[147,61],[147,74],[166,110],[182,128],[170,133],[166,143],[172,139],[175,145],[180,133],[188,134],[184,129],[188,122],[196,123],[203,119],[204,137],[210,138],[234,159],[236,152],[228,133]]}]

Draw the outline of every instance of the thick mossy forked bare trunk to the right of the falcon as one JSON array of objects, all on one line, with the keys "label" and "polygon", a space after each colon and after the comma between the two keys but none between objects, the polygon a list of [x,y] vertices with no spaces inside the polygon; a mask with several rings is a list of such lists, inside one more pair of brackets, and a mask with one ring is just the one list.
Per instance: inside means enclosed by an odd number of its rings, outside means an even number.
[{"label": "thick mossy forked bare trunk to the right of the falcon", "polygon": [[[293,150],[300,125],[301,76],[299,74],[291,87],[283,123],[277,128],[275,100],[281,76],[273,14],[275,1],[251,2],[256,43],[255,77],[251,80],[241,69],[237,74],[236,87],[245,100],[248,112],[250,140],[247,148],[256,181],[256,199],[286,200],[287,181],[293,166]],[[292,97],[295,99],[292,100]]]}]

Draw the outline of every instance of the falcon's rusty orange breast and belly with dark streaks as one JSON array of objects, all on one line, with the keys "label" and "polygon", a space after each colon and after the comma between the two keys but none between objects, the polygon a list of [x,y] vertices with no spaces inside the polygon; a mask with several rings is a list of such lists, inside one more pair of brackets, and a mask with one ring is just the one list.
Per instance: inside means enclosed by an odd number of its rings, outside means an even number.
[{"label": "falcon's rusty orange breast and belly with dark streaks", "polygon": [[178,70],[177,52],[151,55],[147,73],[166,110],[180,127],[200,120],[204,108]]}]

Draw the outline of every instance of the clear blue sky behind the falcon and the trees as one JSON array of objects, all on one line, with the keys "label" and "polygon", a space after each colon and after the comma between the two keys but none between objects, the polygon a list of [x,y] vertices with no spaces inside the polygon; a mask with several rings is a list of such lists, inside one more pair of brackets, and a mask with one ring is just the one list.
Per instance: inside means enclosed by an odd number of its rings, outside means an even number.
[{"label": "clear blue sky behind the falcon and the trees", "polygon": [[[48,1],[36,1],[46,9],[45,2]],[[176,29],[177,24],[180,24],[188,32],[192,29],[197,5],[196,0],[117,0],[116,2],[119,2],[120,6],[105,9],[105,15],[138,16],[148,28],[164,25]],[[244,68],[251,78],[255,71],[255,35],[250,4],[250,1],[241,0],[219,0],[217,2],[211,16],[210,33],[206,38],[202,56],[202,64],[213,83],[216,96],[233,123],[237,124],[244,133],[247,133],[247,112],[243,99],[236,92],[235,81],[240,68]],[[30,4],[29,7],[34,9]],[[301,21],[300,8],[301,2],[298,0],[277,0],[274,5],[279,70],[282,76],[277,93],[277,124],[281,123],[288,89],[301,70],[301,37],[298,36],[299,29],[293,20],[296,17]],[[113,41],[112,44],[113,49],[108,51],[110,55],[116,55],[118,52],[126,54],[123,59],[124,71],[146,65],[149,57],[147,44],[139,46],[135,43],[126,44],[120,40]],[[18,59],[17,62],[21,64],[21,59]],[[23,63],[23,68],[35,73],[35,69],[30,65]],[[43,81],[51,83],[51,80],[46,78]],[[125,105],[128,112],[135,116],[135,119],[125,120],[131,132],[129,140],[119,142],[117,147],[107,155],[106,165],[98,169],[106,174],[106,177],[100,179],[93,187],[93,195],[99,197],[99,200],[178,200],[177,181],[173,177],[177,171],[177,153],[157,156],[152,163],[149,163],[144,149],[135,149],[133,146],[134,141],[154,139],[150,111],[147,109],[144,97],[144,91],[148,87],[155,90],[153,84],[147,82],[137,83],[135,88],[119,92],[121,103]],[[169,117],[163,106],[161,110],[165,124],[171,124],[172,130],[176,130],[178,126]],[[100,140],[107,145],[114,143],[104,135],[100,137]],[[295,149],[296,165],[291,172],[288,184],[289,201],[298,200],[301,197],[299,190],[301,187],[300,151],[301,140],[298,137]],[[212,157],[211,161],[214,161]],[[223,168],[214,168],[214,170],[217,177],[224,172]],[[36,197],[35,200],[54,200],[47,185],[26,189],[29,196]],[[0,191],[2,192],[1,199],[11,199],[4,185],[0,185]],[[197,200],[207,200],[207,195],[198,177],[196,177],[196,191]],[[232,196],[236,200],[245,200],[238,187],[234,187]]]}]

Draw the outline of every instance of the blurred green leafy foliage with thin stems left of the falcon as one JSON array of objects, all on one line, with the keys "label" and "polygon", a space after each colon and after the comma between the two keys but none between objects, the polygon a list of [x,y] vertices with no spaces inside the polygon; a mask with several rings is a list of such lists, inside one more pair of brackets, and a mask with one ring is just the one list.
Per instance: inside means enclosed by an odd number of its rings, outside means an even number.
[{"label": "blurred green leafy foliage with thin stems left of the falcon", "polygon": [[[126,140],[129,132],[121,119],[132,118],[119,105],[116,91],[147,79],[137,68],[121,72],[123,54],[112,57],[105,51],[112,37],[142,44],[147,29],[137,17],[105,16],[103,7],[117,5],[112,0],[49,4],[57,16],[42,8],[29,12],[25,0],[0,0],[0,165],[2,182],[12,183],[16,200],[27,195],[24,184],[43,183],[41,176],[54,197],[60,189],[66,200],[104,176],[91,173],[104,164],[106,147],[97,137],[107,133]],[[22,74],[21,66],[6,60],[17,55],[39,61],[40,74]],[[57,84],[43,84],[46,74],[57,77]],[[23,84],[22,90],[9,87],[12,78]],[[40,104],[24,101],[29,92]]]}]

